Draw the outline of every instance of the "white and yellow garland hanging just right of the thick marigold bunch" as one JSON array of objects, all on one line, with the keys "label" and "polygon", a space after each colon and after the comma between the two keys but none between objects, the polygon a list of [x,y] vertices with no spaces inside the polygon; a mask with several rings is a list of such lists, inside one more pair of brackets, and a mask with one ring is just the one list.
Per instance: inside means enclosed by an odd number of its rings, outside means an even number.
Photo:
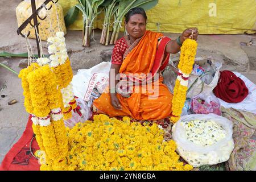
[{"label": "white and yellow garland hanging just right of the thick marigold bunch", "polygon": [[55,37],[48,38],[48,52],[52,54],[49,59],[49,65],[57,76],[58,85],[61,88],[63,96],[63,114],[64,119],[72,117],[72,110],[76,108],[76,100],[72,88],[72,68],[68,58],[67,48],[65,44],[64,32],[57,32]]}]

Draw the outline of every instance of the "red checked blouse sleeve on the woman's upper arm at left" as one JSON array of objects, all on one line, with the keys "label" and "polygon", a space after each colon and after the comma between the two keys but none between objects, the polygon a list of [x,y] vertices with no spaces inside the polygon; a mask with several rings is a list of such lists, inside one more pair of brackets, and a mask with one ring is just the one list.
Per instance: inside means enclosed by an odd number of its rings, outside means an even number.
[{"label": "red checked blouse sleeve on the woman's upper arm at left", "polygon": [[123,62],[123,55],[125,54],[126,49],[127,46],[125,40],[123,38],[119,39],[114,46],[111,63],[121,65]]}]

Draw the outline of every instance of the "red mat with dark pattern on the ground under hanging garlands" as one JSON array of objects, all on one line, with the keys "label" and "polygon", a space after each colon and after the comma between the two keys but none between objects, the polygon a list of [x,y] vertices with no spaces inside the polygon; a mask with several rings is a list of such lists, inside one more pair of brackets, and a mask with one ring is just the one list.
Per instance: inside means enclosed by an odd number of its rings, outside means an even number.
[{"label": "red mat with dark pattern on the ground under hanging garlands", "polygon": [[[17,143],[11,148],[3,159],[0,171],[39,171],[38,160],[31,155],[30,142],[33,137],[31,117],[28,118],[26,129]],[[33,152],[39,150],[38,143],[34,139],[31,144]]]}]

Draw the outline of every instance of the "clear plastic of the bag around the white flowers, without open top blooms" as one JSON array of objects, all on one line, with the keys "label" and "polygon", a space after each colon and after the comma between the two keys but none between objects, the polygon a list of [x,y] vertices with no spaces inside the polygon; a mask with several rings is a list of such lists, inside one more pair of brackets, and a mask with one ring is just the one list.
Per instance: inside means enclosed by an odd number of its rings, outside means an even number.
[{"label": "clear plastic of the bag around the white flowers, without open top blooms", "polygon": [[[214,121],[226,131],[226,137],[211,146],[200,146],[189,141],[186,137],[184,122],[199,119],[201,121]],[[229,159],[234,149],[232,138],[233,123],[216,114],[191,114],[184,115],[172,127],[172,138],[177,144],[177,153],[193,167],[214,165]]]}]

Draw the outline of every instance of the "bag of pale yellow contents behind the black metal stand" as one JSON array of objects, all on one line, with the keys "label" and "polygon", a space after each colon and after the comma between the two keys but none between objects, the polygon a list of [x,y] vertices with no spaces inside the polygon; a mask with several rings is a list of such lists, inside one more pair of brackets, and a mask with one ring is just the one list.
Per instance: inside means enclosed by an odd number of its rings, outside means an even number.
[{"label": "bag of pale yellow contents behind the black metal stand", "polygon": [[[39,6],[41,6],[44,3],[45,0],[36,0],[36,9],[38,9]],[[49,8],[52,5],[51,10],[41,9],[39,11],[39,16],[41,18],[44,18],[47,16],[46,19],[41,20],[38,18],[39,24],[39,35],[42,40],[47,40],[49,36],[55,35],[57,31],[59,31],[59,25],[60,25],[60,31],[63,31],[64,34],[67,34],[67,29],[65,27],[65,21],[64,21],[64,15],[63,15],[63,9],[59,5],[59,3],[56,3],[56,6],[49,2],[47,4],[47,8]],[[56,14],[57,9],[57,14]],[[16,7],[16,19],[18,22],[18,26],[20,26],[27,18],[29,18],[32,15],[32,9],[31,9],[31,1],[25,0],[19,3],[19,5]],[[51,20],[50,20],[51,19]],[[59,19],[59,24],[57,19]],[[51,23],[50,23],[51,21]],[[34,23],[31,21],[31,23]],[[51,35],[50,35],[51,30]],[[24,34],[27,34],[27,32],[30,31],[29,38],[35,39],[35,30],[33,27],[28,24],[28,26],[22,31]]]}]

